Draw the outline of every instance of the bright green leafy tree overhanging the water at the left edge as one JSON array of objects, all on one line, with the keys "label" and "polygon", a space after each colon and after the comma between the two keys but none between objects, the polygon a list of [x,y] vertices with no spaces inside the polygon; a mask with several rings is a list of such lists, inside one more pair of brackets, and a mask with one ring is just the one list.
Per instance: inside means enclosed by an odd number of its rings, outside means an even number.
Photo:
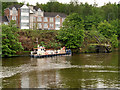
[{"label": "bright green leafy tree overhanging the water at the left edge", "polygon": [[14,26],[2,25],[2,55],[12,56],[23,50],[18,41],[18,29]]}]

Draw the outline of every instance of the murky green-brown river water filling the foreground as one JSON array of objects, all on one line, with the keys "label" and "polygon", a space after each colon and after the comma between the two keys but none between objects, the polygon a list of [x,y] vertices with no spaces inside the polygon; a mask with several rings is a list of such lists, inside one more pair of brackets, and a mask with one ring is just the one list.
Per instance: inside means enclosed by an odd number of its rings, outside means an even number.
[{"label": "murky green-brown river water filling the foreground", "polygon": [[2,59],[2,88],[119,88],[118,52]]}]

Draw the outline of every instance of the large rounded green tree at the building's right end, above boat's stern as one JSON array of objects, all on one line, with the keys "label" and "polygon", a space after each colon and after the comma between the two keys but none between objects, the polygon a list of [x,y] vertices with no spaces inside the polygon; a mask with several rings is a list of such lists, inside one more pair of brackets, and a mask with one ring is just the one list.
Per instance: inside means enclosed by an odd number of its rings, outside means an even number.
[{"label": "large rounded green tree at the building's right end, above boat's stern", "polygon": [[79,48],[84,41],[83,20],[77,14],[69,15],[63,22],[63,27],[58,33],[58,39],[67,48]]}]

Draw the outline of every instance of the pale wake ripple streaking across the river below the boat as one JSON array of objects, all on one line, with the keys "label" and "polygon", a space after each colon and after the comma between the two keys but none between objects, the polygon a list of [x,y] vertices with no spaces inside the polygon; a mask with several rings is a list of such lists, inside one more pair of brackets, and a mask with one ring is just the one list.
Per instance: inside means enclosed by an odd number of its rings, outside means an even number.
[{"label": "pale wake ripple streaking across the river below the boat", "polygon": [[[44,64],[45,62],[45,64]],[[6,77],[11,77],[15,74],[18,73],[25,73],[25,72],[30,72],[33,70],[50,70],[50,69],[65,69],[65,68],[83,68],[83,69],[99,69],[99,70],[91,70],[90,72],[112,72],[116,73],[118,71],[112,71],[112,70],[106,70],[107,69],[115,69],[117,67],[114,66],[101,66],[101,65],[71,65],[70,62],[65,62],[61,61],[59,63],[51,62],[51,61],[45,61],[41,60],[37,65],[32,65],[32,64],[23,64],[18,67],[3,67],[2,68],[2,74],[0,74],[0,78],[6,78]],[[100,70],[102,69],[102,70]],[[104,69],[104,70],[103,70]]]}]

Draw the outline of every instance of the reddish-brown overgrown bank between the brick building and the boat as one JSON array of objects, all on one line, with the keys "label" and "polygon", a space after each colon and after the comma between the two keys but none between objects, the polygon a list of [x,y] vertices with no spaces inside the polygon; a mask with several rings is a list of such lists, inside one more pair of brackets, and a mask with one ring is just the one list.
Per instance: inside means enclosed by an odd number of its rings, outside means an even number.
[{"label": "reddish-brown overgrown bank between the brick building and the boat", "polygon": [[24,51],[32,51],[38,44],[47,49],[58,49],[62,46],[56,38],[58,32],[56,30],[20,30],[19,42],[22,43]]}]

